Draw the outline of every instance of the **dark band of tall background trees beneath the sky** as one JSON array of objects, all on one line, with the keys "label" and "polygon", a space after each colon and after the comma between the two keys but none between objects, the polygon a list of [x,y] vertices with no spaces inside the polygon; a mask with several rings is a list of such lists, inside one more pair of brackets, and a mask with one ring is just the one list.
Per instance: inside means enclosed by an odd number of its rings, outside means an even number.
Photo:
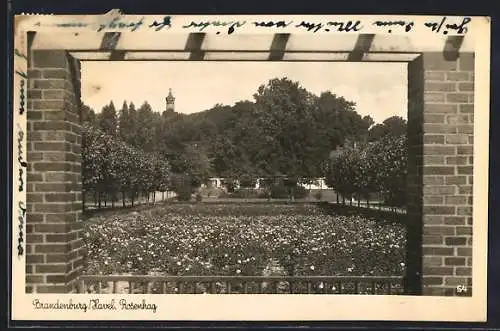
[{"label": "dark band of tall background trees beneath the sky", "polygon": [[[89,127],[120,142],[116,145],[168,160],[170,176],[182,176],[179,181],[191,187],[211,176],[228,182],[286,177],[293,184],[301,178],[325,177],[339,147],[373,145],[406,132],[400,117],[375,124],[355,107],[332,92],[315,95],[298,82],[274,78],[258,87],[252,101],[232,106],[186,109],[193,113],[184,114],[154,111],[148,102],[138,108],[123,102],[117,110],[110,102],[97,114],[83,105],[82,117]],[[145,183],[131,190],[148,187]]]}]

